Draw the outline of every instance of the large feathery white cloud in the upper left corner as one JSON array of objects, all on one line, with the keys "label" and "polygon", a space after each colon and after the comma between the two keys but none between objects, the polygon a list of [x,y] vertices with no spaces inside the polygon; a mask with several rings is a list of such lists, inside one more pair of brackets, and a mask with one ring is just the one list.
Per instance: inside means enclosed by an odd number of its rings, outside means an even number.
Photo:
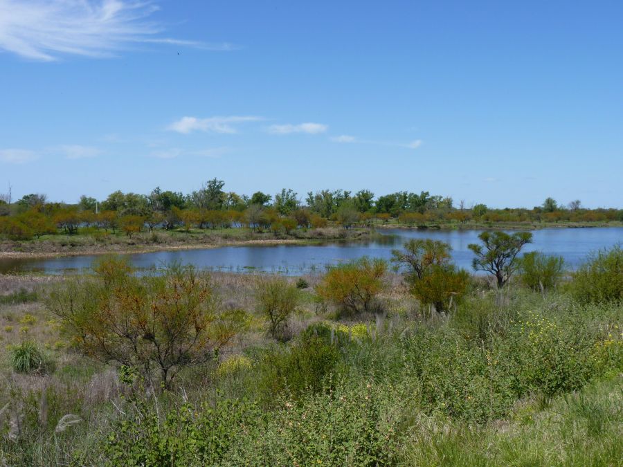
[{"label": "large feathery white cloud in the upper left corner", "polygon": [[46,62],[60,55],[109,57],[137,43],[231,51],[233,44],[206,44],[161,37],[148,17],[150,0],[0,0],[0,49]]}]

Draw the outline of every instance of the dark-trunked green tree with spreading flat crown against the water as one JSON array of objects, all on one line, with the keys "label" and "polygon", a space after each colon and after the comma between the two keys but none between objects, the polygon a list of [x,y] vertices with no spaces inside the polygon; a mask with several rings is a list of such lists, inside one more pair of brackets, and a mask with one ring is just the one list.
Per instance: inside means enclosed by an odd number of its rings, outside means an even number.
[{"label": "dark-trunked green tree with spreading flat crown against the water", "polygon": [[472,261],[475,271],[486,271],[496,276],[498,289],[501,289],[516,269],[516,256],[525,244],[532,242],[532,233],[516,232],[482,232],[478,235],[480,244],[469,244],[467,247],[476,257]]}]

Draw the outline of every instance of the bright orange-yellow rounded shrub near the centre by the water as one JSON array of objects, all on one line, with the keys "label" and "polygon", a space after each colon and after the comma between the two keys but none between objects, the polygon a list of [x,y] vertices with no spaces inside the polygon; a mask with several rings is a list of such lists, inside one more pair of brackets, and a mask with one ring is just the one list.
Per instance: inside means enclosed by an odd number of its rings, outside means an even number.
[{"label": "bright orange-yellow rounded shrub near the centre by the water", "polygon": [[386,262],[368,257],[330,266],[316,292],[324,300],[352,313],[372,311],[374,299],[385,286],[386,271]]}]

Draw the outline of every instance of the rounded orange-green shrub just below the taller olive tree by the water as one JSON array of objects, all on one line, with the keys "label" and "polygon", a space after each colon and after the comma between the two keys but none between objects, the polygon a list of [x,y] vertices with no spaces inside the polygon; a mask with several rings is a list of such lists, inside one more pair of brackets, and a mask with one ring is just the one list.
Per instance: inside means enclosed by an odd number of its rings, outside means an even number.
[{"label": "rounded orange-green shrub just below the taller olive tree by the water", "polygon": [[411,285],[411,293],[422,304],[432,304],[438,312],[457,304],[467,290],[469,274],[453,264],[431,266],[422,278]]}]

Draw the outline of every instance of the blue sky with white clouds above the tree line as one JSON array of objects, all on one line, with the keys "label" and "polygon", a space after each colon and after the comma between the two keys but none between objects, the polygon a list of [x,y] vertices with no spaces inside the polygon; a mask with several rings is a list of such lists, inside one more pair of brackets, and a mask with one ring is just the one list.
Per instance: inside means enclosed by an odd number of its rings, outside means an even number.
[{"label": "blue sky with white clouds above the tree line", "polygon": [[0,192],[623,207],[620,1],[0,0]]}]

